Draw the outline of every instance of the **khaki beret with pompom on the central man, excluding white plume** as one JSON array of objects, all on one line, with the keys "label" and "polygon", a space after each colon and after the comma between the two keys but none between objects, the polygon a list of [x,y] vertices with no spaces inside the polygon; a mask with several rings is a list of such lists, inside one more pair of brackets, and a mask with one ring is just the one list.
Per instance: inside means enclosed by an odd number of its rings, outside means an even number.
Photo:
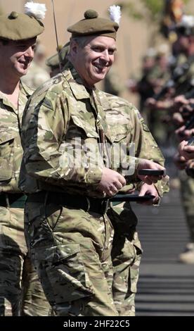
[{"label": "khaki beret with pompom on the central man, excluding white plume", "polygon": [[72,33],[72,37],[82,37],[88,35],[106,36],[116,39],[119,25],[112,20],[99,18],[98,13],[89,9],[84,13],[84,20],[67,28]]}]

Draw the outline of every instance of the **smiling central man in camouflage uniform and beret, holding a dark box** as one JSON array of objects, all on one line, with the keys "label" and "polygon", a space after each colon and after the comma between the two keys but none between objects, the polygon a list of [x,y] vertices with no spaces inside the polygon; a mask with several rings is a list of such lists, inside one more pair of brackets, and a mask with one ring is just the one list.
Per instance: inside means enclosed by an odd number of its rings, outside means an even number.
[{"label": "smiling central man in camouflage uniform and beret, holding a dark box", "polygon": [[129,146],[123,164],[112,161],[104,113],[109,101],[102,101],[94,84],[112,65],[118,25],[95,11],[84,17],[68,28],[70,62],[63,73],[37,89],[27,104],[20,188],[29,194],[27,243],[58,316],[118,316],[108,198],[126,180],[151,185],[161,179],[137,175],[138,169],[163,167],[130,156]]}]

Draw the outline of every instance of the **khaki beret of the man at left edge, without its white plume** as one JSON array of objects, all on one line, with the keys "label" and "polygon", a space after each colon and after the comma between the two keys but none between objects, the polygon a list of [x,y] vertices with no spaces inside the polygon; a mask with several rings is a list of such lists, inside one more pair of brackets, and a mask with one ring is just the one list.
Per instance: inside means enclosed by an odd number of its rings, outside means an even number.
[{"label": "khaki beret of the man at left edge, without its white plume", "polygon": [[33,16],[12,11],[0,15],[0,38],[23,40],[37,37],[44,31],[44,25]]}]

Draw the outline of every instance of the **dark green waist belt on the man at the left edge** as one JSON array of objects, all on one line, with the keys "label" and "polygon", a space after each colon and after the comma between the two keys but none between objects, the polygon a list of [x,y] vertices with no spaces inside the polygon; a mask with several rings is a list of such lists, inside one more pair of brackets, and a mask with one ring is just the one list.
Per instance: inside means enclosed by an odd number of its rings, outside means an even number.
[{"label": "dark green waist belt on the man at the left edge", "polygon": [[25,208],[27,196],[22,193],[4,193],[0,194],[0,206],[10,208]]}]

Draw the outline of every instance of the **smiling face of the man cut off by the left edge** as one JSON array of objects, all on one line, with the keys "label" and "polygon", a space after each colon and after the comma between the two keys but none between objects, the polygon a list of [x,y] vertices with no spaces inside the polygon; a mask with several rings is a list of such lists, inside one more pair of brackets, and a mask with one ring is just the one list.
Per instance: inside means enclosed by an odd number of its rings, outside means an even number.
[{"label": "smiling face of the man cut off by the left edge", "polygon": [[36,39],[35,37],[19,42],[10,40],[8,44],[0,43],[1,68],[4,68],[8,75],[18,77],[26,75],[30,63],[34,58]]}]

